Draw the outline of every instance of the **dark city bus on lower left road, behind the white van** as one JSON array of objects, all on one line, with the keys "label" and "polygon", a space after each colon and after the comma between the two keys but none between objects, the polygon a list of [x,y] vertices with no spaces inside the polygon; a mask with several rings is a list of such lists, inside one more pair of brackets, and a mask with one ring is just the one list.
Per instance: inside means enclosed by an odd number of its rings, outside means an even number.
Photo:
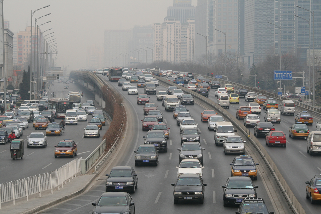
[{"label": "dark city bus on lower left road, behind the white van", "polygon": [[52,110],[55,118],[65,118],[66,110],[74,109],[73,101],[67,98],[53,98],[48,100],[48,110]]}]

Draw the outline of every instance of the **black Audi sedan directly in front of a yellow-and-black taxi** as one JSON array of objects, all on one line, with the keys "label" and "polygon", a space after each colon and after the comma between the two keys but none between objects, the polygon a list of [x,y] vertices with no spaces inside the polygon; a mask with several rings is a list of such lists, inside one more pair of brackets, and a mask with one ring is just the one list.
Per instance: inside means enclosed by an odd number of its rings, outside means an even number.
[{"label": "black Audi sedan directly in front of a yellow-and-black taxi", "polygon": [[249,177],[229,177],[222,186],[223,206],[240,204],[245,198],[256,198],[256,188]]}]

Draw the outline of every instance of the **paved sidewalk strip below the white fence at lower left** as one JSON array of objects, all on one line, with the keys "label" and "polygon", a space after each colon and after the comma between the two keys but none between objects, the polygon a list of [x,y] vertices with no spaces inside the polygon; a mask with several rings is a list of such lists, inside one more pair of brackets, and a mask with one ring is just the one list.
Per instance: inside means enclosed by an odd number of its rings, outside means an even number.
[{"label": "paved sidewalk strip below the white fence at lower left", "polygon": [[17,199],[15,205],[13,205],[13,201],[2,203],[0,213],[31,214],[43,210],[82,193],[96,176],[97,174],[77,175],[74,179],[70,179],[70,182],[67,180],[67,184],[64,183],[64,188],[61,188],[60,185],[59,191],[58,188],[55,188],[53,194],[49,190],[41,192],[41,197],[39,197],[39,193],[30,195],[29,201],[27,201],[27,197]]}]

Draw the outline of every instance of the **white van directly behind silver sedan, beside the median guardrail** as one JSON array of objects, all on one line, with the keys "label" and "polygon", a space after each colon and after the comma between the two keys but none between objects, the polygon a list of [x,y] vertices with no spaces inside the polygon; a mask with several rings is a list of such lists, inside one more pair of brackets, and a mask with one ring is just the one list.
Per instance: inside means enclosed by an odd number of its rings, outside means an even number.
[{"label": "white van directly behind silver sedan, beside the median guardrail", "polygon": [[231,122],[216,122],[214,126],[214,142],[217,146],[219,143],[224,142],[226,136],[235,135],[236,130]]}]

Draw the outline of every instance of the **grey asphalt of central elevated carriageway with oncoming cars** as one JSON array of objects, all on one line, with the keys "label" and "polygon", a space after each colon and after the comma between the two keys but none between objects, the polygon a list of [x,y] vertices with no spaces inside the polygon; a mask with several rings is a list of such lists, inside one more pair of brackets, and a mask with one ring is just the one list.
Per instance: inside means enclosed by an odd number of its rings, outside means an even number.
[{"label": "grey asphalt of central elevated carriageway with oncoming cars", "polygon": [[[143,144],[143,136],[146,131],[142,131],[143,106],[136,104],[136,95],[127,95],[126,91],[122,91],[121,87],[117,86],[117,82],[109,82],[104,77],[108,84],[112,85],[125,97],[125,106],[127,109],[128,119],[130,121],[130,130],[126,134],[125,150],[121,151],[118,158],[114,160],[109,169],[102,173],[102,176],[96,180],[96,183],[91,189],[77,197],[68,201],[62,202],[54,207],[43,210],[39,213],[91,213],[93,206],[91,202],[96,202],[101,193],[105,192],[105,174],[109,174],[112,166],[132,166],[138,174],[138,188],[134,194],[131,194],[135,201],[137,213],[235,213],[236,207],[223,207],[223,191],[222,185],[230,176],[230,163],[235,155],[224,155],[222,146],[215,146],[213,143],[213,131],[207,129],[207,123],[202,123],[200,113],[204,109],[208,109],[202,103],[195,102],[195,105],[188,106],[189,112],[198,122],[198,127],[201,130],[201,144],[205,148],[204,151],[204,183],[205,200],[204,204],[198,202],[180,202],[173,203],[173,186],[177,180],[177,169],[179,164],[178,150],[180,147],[179,127],[176,125],[176,120],[172,116],[172,112],[166,112],[161,106],[160,101],[156,101],[156,95],[149,95],[151,102],[157,103],[158,109],[164,113],[164,122],[170,127],[168,152],[160,153],[158,166],[134,166],[133,151],[138,145]],[[166,90],[167,87],[160,85],[157,90]],[[143,93],[143,88],[138,89],[139,93]],[[213,91],[210,92],[210,98],[214,99]],[[232,108],[230,108],[232,110]],[[280,148],[275,148],[280,149]],[[283,148],[282,148],[283,149]],[[287,148],[286,148],[287,149]],[[265,190],[265,185],[260,174],[258,180],[253,181],[254,185],[258,185],[258,197],[265,199],[270,211],[277,211],[270,200],[269,194]]]}]

